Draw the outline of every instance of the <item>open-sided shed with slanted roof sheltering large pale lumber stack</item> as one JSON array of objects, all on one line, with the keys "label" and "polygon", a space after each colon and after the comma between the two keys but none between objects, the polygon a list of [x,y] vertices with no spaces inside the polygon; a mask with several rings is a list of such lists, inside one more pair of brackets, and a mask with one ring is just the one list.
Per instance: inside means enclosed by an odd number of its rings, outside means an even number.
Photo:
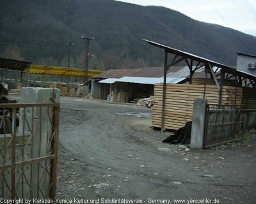
[{"label": "open-sided shed with slanted roof sheltering large pale lumber stack", "polygon": [[[156,84],[154,89],[153,127],[161,130],[182,128],[192,120],[196,98],[207,99],[216,105],[256,108],[256,75],[153,41],[144,41],[164,51],[164,82]],[[168,84],[168,72],[179,62],[188,65],[189,80],[184,84]],[[204,69],[204,73],[196,73],[198,69]]]}]

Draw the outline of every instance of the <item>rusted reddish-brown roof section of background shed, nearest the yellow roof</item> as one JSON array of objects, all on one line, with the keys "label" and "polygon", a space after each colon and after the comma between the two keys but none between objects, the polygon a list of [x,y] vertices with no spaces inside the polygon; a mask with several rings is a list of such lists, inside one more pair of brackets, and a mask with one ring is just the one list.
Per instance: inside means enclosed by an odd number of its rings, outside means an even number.
[{"label": "rusted reddish-brown roof section of background shed, nearest the yellow roof", "polygon": [[136,73],[140,71],[140,69],[109,69],[104,73],[93,76],[92,78],[122,78],[131,75],[132,73]]}]

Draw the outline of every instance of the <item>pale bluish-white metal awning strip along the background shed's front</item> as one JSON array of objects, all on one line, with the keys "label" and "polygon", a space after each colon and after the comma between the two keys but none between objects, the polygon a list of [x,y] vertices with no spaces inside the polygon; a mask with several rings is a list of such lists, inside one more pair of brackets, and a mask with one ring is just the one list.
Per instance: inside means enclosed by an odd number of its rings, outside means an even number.
[{"label": "pale bluish-white metal awning strip along the background shed's front", "polygon": [[[177,84],[186,78],[166,78],[167,83]],[[122,77],[116,80],[116,82],[127,82],[127,83],[137,83],[137,84],[157,84],[163,83],[164,78],[159,77]]]}]

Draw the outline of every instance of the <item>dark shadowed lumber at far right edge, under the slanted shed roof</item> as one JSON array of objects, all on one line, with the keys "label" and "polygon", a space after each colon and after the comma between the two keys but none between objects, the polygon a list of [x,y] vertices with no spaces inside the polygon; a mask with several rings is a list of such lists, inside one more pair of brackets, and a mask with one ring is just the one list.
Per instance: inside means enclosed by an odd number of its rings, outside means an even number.
[{"label": "dark shadowed lumber at far right edge, under the slanted shed roof", "polygon": [[242,105],[245,108],[256,108],[256,89],[250,87],[243,88]]}]

